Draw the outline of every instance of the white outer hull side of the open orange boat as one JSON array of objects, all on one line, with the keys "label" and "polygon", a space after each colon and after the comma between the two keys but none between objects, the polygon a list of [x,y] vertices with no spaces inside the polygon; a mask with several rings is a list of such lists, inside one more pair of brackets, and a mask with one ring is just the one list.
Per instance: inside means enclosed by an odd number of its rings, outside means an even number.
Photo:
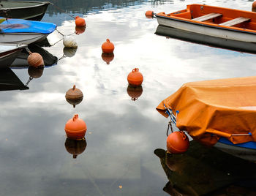
[{"label": "white outer hull side of the open orange boat", "polygon": [[184,31],[191,31],[197,34],[206,34],[212,37],[220,37],[224,39],[232,39],[241,42],[256,42],[256,34],[246,31],[233,31],[225,28],[216,28],[214,26],[200,25],[197,23],[186,22],[183,20],[173,20],[157,16],[159,25],[169,26]]}]

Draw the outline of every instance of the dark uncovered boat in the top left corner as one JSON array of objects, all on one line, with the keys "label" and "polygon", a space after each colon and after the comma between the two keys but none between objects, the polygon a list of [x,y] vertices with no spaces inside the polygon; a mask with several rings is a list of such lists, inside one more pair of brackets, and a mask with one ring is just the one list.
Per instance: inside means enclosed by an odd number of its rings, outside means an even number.
[{"label": "dark uncovered boat in the top left corner", "polygon": [[42,20],[49,4],[48,1],[0,1],[0,16]]}]

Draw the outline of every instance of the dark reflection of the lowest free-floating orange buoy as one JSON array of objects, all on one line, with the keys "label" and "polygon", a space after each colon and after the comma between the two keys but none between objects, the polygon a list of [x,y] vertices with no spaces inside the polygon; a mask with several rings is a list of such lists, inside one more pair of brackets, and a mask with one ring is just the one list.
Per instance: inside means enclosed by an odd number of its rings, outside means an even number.
[{"label": "dark reflection of the lowest free-floating orange buoy", "polygon": [[76,159],[79,154],[82,154],[86,150],[86,139],[84,140],[72,140],[67,138],[65,141],[65,148],[69,154],[73,155],[73,159]]}]

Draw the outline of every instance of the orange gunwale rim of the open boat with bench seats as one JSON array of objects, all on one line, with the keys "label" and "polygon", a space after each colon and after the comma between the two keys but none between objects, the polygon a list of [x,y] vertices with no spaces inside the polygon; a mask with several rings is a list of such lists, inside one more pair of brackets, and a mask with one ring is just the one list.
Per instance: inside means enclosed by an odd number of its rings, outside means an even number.
[{"label": "orange gunwale rim of the open boat with bench seats", "polygon": [[[206,5],[206,4],[188,4],[187,5],[187,12],[191,12],[190,7],[191,6],[207,6],[207,7],[216,7],[216,6],[211,6],[211,5]],[[246,10],[237,10],[237,9],[230,9],[230,8],[226,8],[226,7],[216,7],[217,9],[222,9],[222,10],[233,10],[235,12],[244,12],[244,13],[250,13],[250,14],[254,14],[256,15],[255,12],[249,12]],[[181,12],[182,10],[178,10],[176,12]],[[159,12],[158,14],[156,14],[156,17],[159,18],[166,18],[169,20],[176,20],[179,22],[184,22],[184,23],[191,23],[191,24],[195,24],[198,26],[206,26],[206,27],[210,27],[210,28],[214,28],[214,29],[222,29],[222,30],[228,30],[228,31],[238,31],[238,32],[243,32],[243,33],[248,33],[248,34],[256,34],[256,29],[252,30],[252,29],[242,29],[239,27],[235,27],[235,26],[222,26],[216,23],[206,23],[204,21],[197,21],[197,20],[192,20],[192,19],[187,19],[187,18],[181,18],[175,15],[172,15],[173,13],[176,12],[172,12],[170,14],[168,14],[169,16],[167,16],[167,14],[165,14],[164,12]],[[163,25],[163,24],[161,24]],[[163,25],[165,26],[165,25]]]}]

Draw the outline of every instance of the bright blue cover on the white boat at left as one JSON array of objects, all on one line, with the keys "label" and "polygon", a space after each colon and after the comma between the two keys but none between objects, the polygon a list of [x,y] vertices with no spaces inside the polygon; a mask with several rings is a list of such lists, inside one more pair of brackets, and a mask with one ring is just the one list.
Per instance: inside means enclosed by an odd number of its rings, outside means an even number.
[{"label": "bright blue cover on the white boat at left", "polygon": [[6,19],[0,17],[1,33],[40,33],[50,34],[56,29],[54,23],[44,23],[33,20]]}]

